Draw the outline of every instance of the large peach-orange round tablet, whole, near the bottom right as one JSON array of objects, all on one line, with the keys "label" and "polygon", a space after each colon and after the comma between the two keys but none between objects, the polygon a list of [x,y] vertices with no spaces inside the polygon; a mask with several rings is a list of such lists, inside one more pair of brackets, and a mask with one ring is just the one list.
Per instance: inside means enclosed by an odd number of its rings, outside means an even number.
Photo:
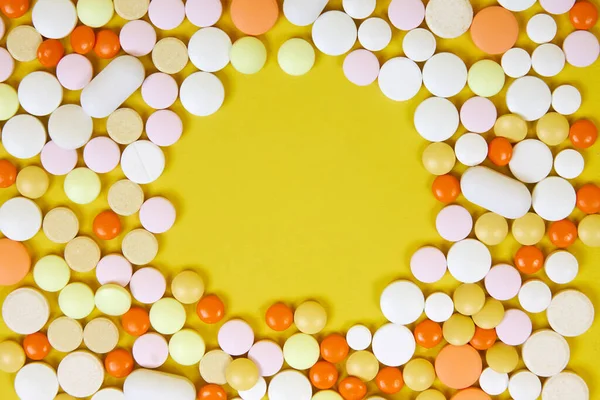
[{"label": "large peach-orange round tablet, whole, near the bottom right", "polygon": [[473,385],[481,375],[481,356],[467,345],[444,347],[435,359],[435,372],[442,383],[452,389]]}]

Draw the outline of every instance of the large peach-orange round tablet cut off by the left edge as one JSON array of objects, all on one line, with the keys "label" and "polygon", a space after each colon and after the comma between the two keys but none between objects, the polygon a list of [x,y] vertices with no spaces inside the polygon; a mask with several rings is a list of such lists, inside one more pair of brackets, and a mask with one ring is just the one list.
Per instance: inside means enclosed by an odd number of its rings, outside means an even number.
[{"label": "large peach-orange round tablet cut off by the left edge", "polygon": [[21,282],[30,268],[31,257],[23,243],[0,239],[0,286]]}]

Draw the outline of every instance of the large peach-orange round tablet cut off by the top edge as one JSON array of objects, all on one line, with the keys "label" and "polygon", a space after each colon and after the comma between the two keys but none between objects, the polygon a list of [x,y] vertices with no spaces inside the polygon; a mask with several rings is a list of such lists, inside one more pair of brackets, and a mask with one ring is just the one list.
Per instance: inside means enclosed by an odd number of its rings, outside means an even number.
[{"label": "large peach-orange round tablet cut off by the top edge", "polygon": [[279,17],[277,0],[233,0],[233,24],[246,35],[258,36],[269,31]]}]

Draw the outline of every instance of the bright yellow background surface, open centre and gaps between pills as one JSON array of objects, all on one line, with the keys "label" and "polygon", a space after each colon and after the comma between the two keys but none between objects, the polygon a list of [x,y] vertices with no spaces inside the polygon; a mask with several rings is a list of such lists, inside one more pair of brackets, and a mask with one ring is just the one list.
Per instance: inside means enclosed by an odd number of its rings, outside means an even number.
[{"label": "bright yellow background surface, open centre and gaps between pills", "polygon": [[[331,3],[332,8],[338,8],[340,1]],[[387,5],[387,1],[384,3]],[[491,3],[492,0],[478,1],[476,9]],[[534,8],[527,16],[539,10]],[[381,5],[376,14],[385,16],[385,6]],[[522,28],[526,20],[525,15],[519,15]],[[561,43],[572,28],[566,16],[557,20],[562,28],[556,42]],[[109,26],[114,28],[123,23],[124,20],[114,17]],[[15,23],[7,24],[11,28]],[[219,25],[234,40],[242,36],[232,28],[229,15]],[[193,31],[186,22],[169,35],[188,38]],[[598,26],[594,32],[599,34]],[[159,36],[164,37],[165,33],[160,32]],[[379,310],[379,295],[392,280],[411,278],[408,268],[411,254],[425,244],[441,246],[444,251],[449,248],[449,243],[435,232],[435,215],[442,205],[430,193],[434,177],[421,165],[427,143],[412,126],[412,114],[419,101],[428,97],[427,91],[422,89],[409,102],[393,102],[381,94],[376,84],[365,88],[349,83],[341,71],[343,57],[319,53],[312,71],[306,76],[291,77],[278,67],[276,52],[281,43],[294,36],[309,39],[309,28],[293,27],[282,17],[271,32],[261,37],[267,46],[268,61],[260,73],[247,76],[235,72],[231,66],[218,72],[225,85],[226,99],[215,115],[192,118],[177,102],[174,110],[184,119],[183,137],[166,149],[164,175],[144,187],[147,197],[166,196],[178,212],[173,229],[158,236],[160,251],[152,265],[160,268],[169,281],[179,271],[198,271],[206,283],[206,292],[217,293],[225,301],[227,318],[244,318],[255,328],[257,338],[276,338],[280,343],[293,333],[293,328],[283,334],[268,330],[264,312],[272,303],[285,301],[298,305],[306,299],[321,302],[328,311],[328,323],[317,335],[319,339],[330,332],[345,331],[357,322],[374,330],[385,322]],[[394,29],[392,44],[382,52],[382,61],[402,54],[403,36],[404,33]],[[526,38],[519,43],[533,50]],[[444,50],[457,52],[469,66],[483,58],[468,35],[459,40],[438,41],[438,51]],[[151,65],[149,56],[143,60]],[[99,70],[100,62],[93,58],[93,63]],[[36,69],[40,69],[37,62],[17,65],[16,75],[9,83],[16,86],[19,78]],[[193,71],[188,64],[176,75],[177,81],[181,82]],[[154,72],[154,68],[148,68],[148,72]],[[599,62],[586,69],[567,66],[551,82],[552,87],[559,82],[571,83],[582,91],[584,105],[577,117],[598,115]],[[502,101],[505,92],[506,86],[500,96],[493,98],[501,113],[507,112]],[[468,97],[470,93],[465,90],[453,101],[460,104]],[[76,93],[69,93],[65,102],[76,99]],[[126,105],[140,109],[144,119],[150,114],[148,108],[142,107],[139,93]],[[600,126],[600,120],[593,119]],[[94,121],[94,128],[95,135],[104,135],[105,121]],[[464,133],[464,129],[459,133]],[[535,137],[533,124],[529,124],[529,136]],[[600,144],[584,152],[586,170],[576,182],[597,179],[598,149]],[[5,153],[0,149],[2,157]],[[39,160],[17,164],[22,168],[39,164]],[[81,161],[79,166],[83,166]],[[460,170],[461,167],[455,167],[455,171]],[[38,204],[44,212],[59,205],[72,207],[80,218],[81,233],[91,235],[93,217],[108,209],[106,190],[122,177],[120,169],[103,175],[102,194],[85,207],[66,199],[63,177],[51,177],[50,189]],[[2,190],[0,202],[15,195],[14,187]],[[465,204],[462,197],[459,203]],[[483,213],[481,209],[475,211],[477,216]],[[574,213],[575,220],[581,218],[579,212]],[[124,218],[123,226],[124,233],[139,227],[137,215]],[[119,251],[124,233],[102,243],[103,254]],[[26,245],[34,261],[47,254],[60,254],[64,249],[41,232]],[[547,238],[541,246],[545,253],[551,250]],[[509,235],[500,249],[493,250],[494,261],[510,262],[517,248],[518,244]],[[597,285],[600,250],[585,248],[581,242],[571,250],[580,261],[581,272],[566,287],[585,291],[600,309]],[[547,281],[543,273],[538,275]],[[99,286],[94,272],[74,272],[71,280],[84,281],[94,290]],[[33,284],[31,274],[24,284]],[[449,276],[440,285],[421,285],[425,294],[440,288],[450,293],[456,286],[457,282]],[[550,287],[553,291],[559,289],[554,284]],[[12,289],[0,289],[0,301]],[[56,318],[60,314],[57,294],[45,295],[52,305],[51,317]],[[515,306],[516,302],[510,304]],[[194,305],[185,308],[186,327],[198,329],[207,342],[207,350],[214,349],[217,327],[202,324],[194,314]],[[85,321],[97,316],[96,310]],[[113,320],[118,322],[118,318]],[[534,326],[547,326],[544,315],[535,318]],[[600,396],[598,335],[600,324],[595,323],[584,336],[568,339],[572,351],[569,369],[587,381],[592,398]],[[0,336],[22,340],[2,323]],[[130,336],[122,334],[121,346],[130,348],[132,342]],[[432,360],[438,350],[419,349],[418,354]],[[57,366],[62,356],[52,351],[49,361]],[[186,374],[197,385],[201,384],[197,366],[181,367],[170,360],[161,370]],[[13,379],[13,374],[0,374],[3,400],[16,399]],[[107,379],[106,384],[120,387],[122,382]],[[436,380],[434,387],[441,388],[439,381]],[[447,389],[442,390],[450,394]],[[407,388],[400,396],[386,396],[415,397]]]}]

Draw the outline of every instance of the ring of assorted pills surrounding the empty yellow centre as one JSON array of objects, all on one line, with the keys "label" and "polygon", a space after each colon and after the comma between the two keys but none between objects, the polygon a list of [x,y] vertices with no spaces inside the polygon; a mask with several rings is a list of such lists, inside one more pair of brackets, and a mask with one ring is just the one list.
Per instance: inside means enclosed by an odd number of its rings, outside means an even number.
[{"label": "ring of assorted pills surrounding the empty yellow centre", "polygon": [[[552,282],[568,284],[579,265],[566,248],[577,238],[600,246],[600,188],[586,184],[576,190],[569,181],[583,171],[581,150],[595,143],[596,127],[589,120],[568,119],[581,106],[577,88],[551,90],[543,80],[558,75],[567,63],[586,67],[597,60],[600,45],[589,31],[597,10],[585,0],[540,0],[544,12],[525,28],[535,45],[530,54],[514,47],[524,28],[515,13],[536,0],[498,2],[475,12],[469,0],[429,0],[427,5],[392,0],[386,20],[372,16],[376,0],[343,0],[343,11],[325,11],[327,0],[284,0],[283,14],[294,25],[311,26],[316,49],[345,55],[342,69],[350,82],[366,86],[377,81],[394,101],[415,97],[422,86],[432,94],[417,106],[414,125],[431,142],[422,160],[436,176],[433,195],[446,204],[435,224],[451,246],[446,254],[422,247],[413,254],[410,270],[425,284],[435,284],[449,271],[460,286],[452,296],[433,292],[426,297],[411,281],[392,282],[380,297],[386,324],[374,331],[355,325],[346,335],[329,334],[320,342],[315,335],[327,323],[323,306],[306,301],[294,310],[274,304],[266,324],[277,332],[292,325],[298,331],[283,346],[256,340],[242,319],[223,323],[224,303],[205,295],[195,271],[175,276],[167,290],[163,273],[149,264],[158,253],[156,235],[175,223],[175,207],[164,197],[145,198],[140,186],[162,175],[162,148],[182,135],[182,119],[169,107],[179,99],[194,116],[214,114],[225,98],[215,72],[229,64],[243,74],[263,68],[267,47],[257,36],[277,22],[278,2],[232,0],[233,24],[248,35],[235,42],[214,26],[223,13],[220,0],[35,2],[32,25],[13,26],[6,48],[0,48],[0,82],[11,78],[15,60],[37,59],[45,68],[25,75],[17,90],[0,83],[4,149],[19,160],[39,155],[41,161],[41,167],[17,171],[9,160],[0,160],[0,188],[14,184],[20,194],[0,206],[5,236],[0,239],[0,285],[16,285],[32,269],[38,287],[16,288],[2,304],[4,323],[25,336],[22,344],[0,343],[0,369],[16,373],[19,398],[225,400],[231,389],[241,400],[265,395],[271,400],[383,400],[407,386],[418,392],[418,400],[444,400],[446,395],[486,400],[506,391],[514,400],[589,399],[583,379],[565,371],[570,359],[565,337],[590,328],[594,307],[578,290],[553,294],[533,274],[543,269]],[[8,18],[28,10],[28,0],[0,0]],[[115,12],[127,21],[118,34],[105,28]],[[564,13],[576,30],[559,47],[552,43],[558,31],[554,15]],[[186,18],[199,28],[187,44],[176,37],[158,39],[157,29],[175,29]],[[393,29],[406,32],[406,57],[380,65],[375,53],[391,43]],[[0,19],[0,38],[4,33]],[[436,37],[467,33],[499,62],[484,59],[468,68],[451,52],[436,53]],[[353,50],[357,41],[361,48]],[[306,74],[315,63],[313,44],[287,40],[277,53],[281,69]],[[110,61],[94,74],[90,56]],[[145,56],[156,72],[146,74],[139,60]],[[178,85],[172,75],[188,61],[199,71]],[[465,87],[475,97],[459,110],[449,98]],[[505,87],[511,114],[499,116],[490,98]],[[80,104],[62,104],[64,90],[80,91]],[[138,111],[122,107],[138,90],[153,110],[145,122]],[[17,114],[20,109],[24,113]],[[93,119],[106,119],[107,136],[94,137]],[[452,147],[447,141],[461,124],[468,132]],[[528,138],[530,125],[537,138]],[[553,152],[567,141],[574,149]],[[80,149],[85,167],[77,167]],[[457,160],[466,167],[460,180],[450,174]],[[35,201],[46,194],[53,175],[65,176],[63,190],[74,207],[90,204],[102,192],[100,176],[119,166],[125,179],[108,188],[109,209],[93,220],[95,238],[80,235],[80,220],[70,208],[56,207],[44,215]],[[487,212],[474,221],[466,208],[452,204],[460,194]],[[578,225],[568,219],[575,208],[586,214]],[[120,254],[103,256],[98,243],[121,236],[122,218],[135,214],[141,227],[123,235]],[[489,248],[507,237],[507,220],[513,220],[510,231],[522,247],[514,265],[494,264]],[[22,242],[40,230],[64,252],[36,257],[32,268]],[[536,245],[546,234],[557,249],[545,256]],[[73,281],[72,272],[95,274],[95,290]],[[51,321],[44,292],[58,293],[62,315]],[[513,299],[520,308],[503,303]],[[220,324],[218,349],[207,351],[204,338],[185,327],[186,305],[195,305],[203,323]],[[89,319],[95,310],[104,316]],[[534,331],[530,314],[542,312],[550,329]],[[135,337],[130,350],[117,348],[121,332]],[[440,350],[432,362],[414,358],[417,346]],[[56,369],[44,361],[52,349],[65,353]],[[198,366],[199,389],[187,378],[155,370],[169,357],[181,366]],[[520,359],[525,369],[517,369]],[[106,375],[124,379],[122,388],[102,388]],[[436,379],[447,389],[433,389]]]}]

